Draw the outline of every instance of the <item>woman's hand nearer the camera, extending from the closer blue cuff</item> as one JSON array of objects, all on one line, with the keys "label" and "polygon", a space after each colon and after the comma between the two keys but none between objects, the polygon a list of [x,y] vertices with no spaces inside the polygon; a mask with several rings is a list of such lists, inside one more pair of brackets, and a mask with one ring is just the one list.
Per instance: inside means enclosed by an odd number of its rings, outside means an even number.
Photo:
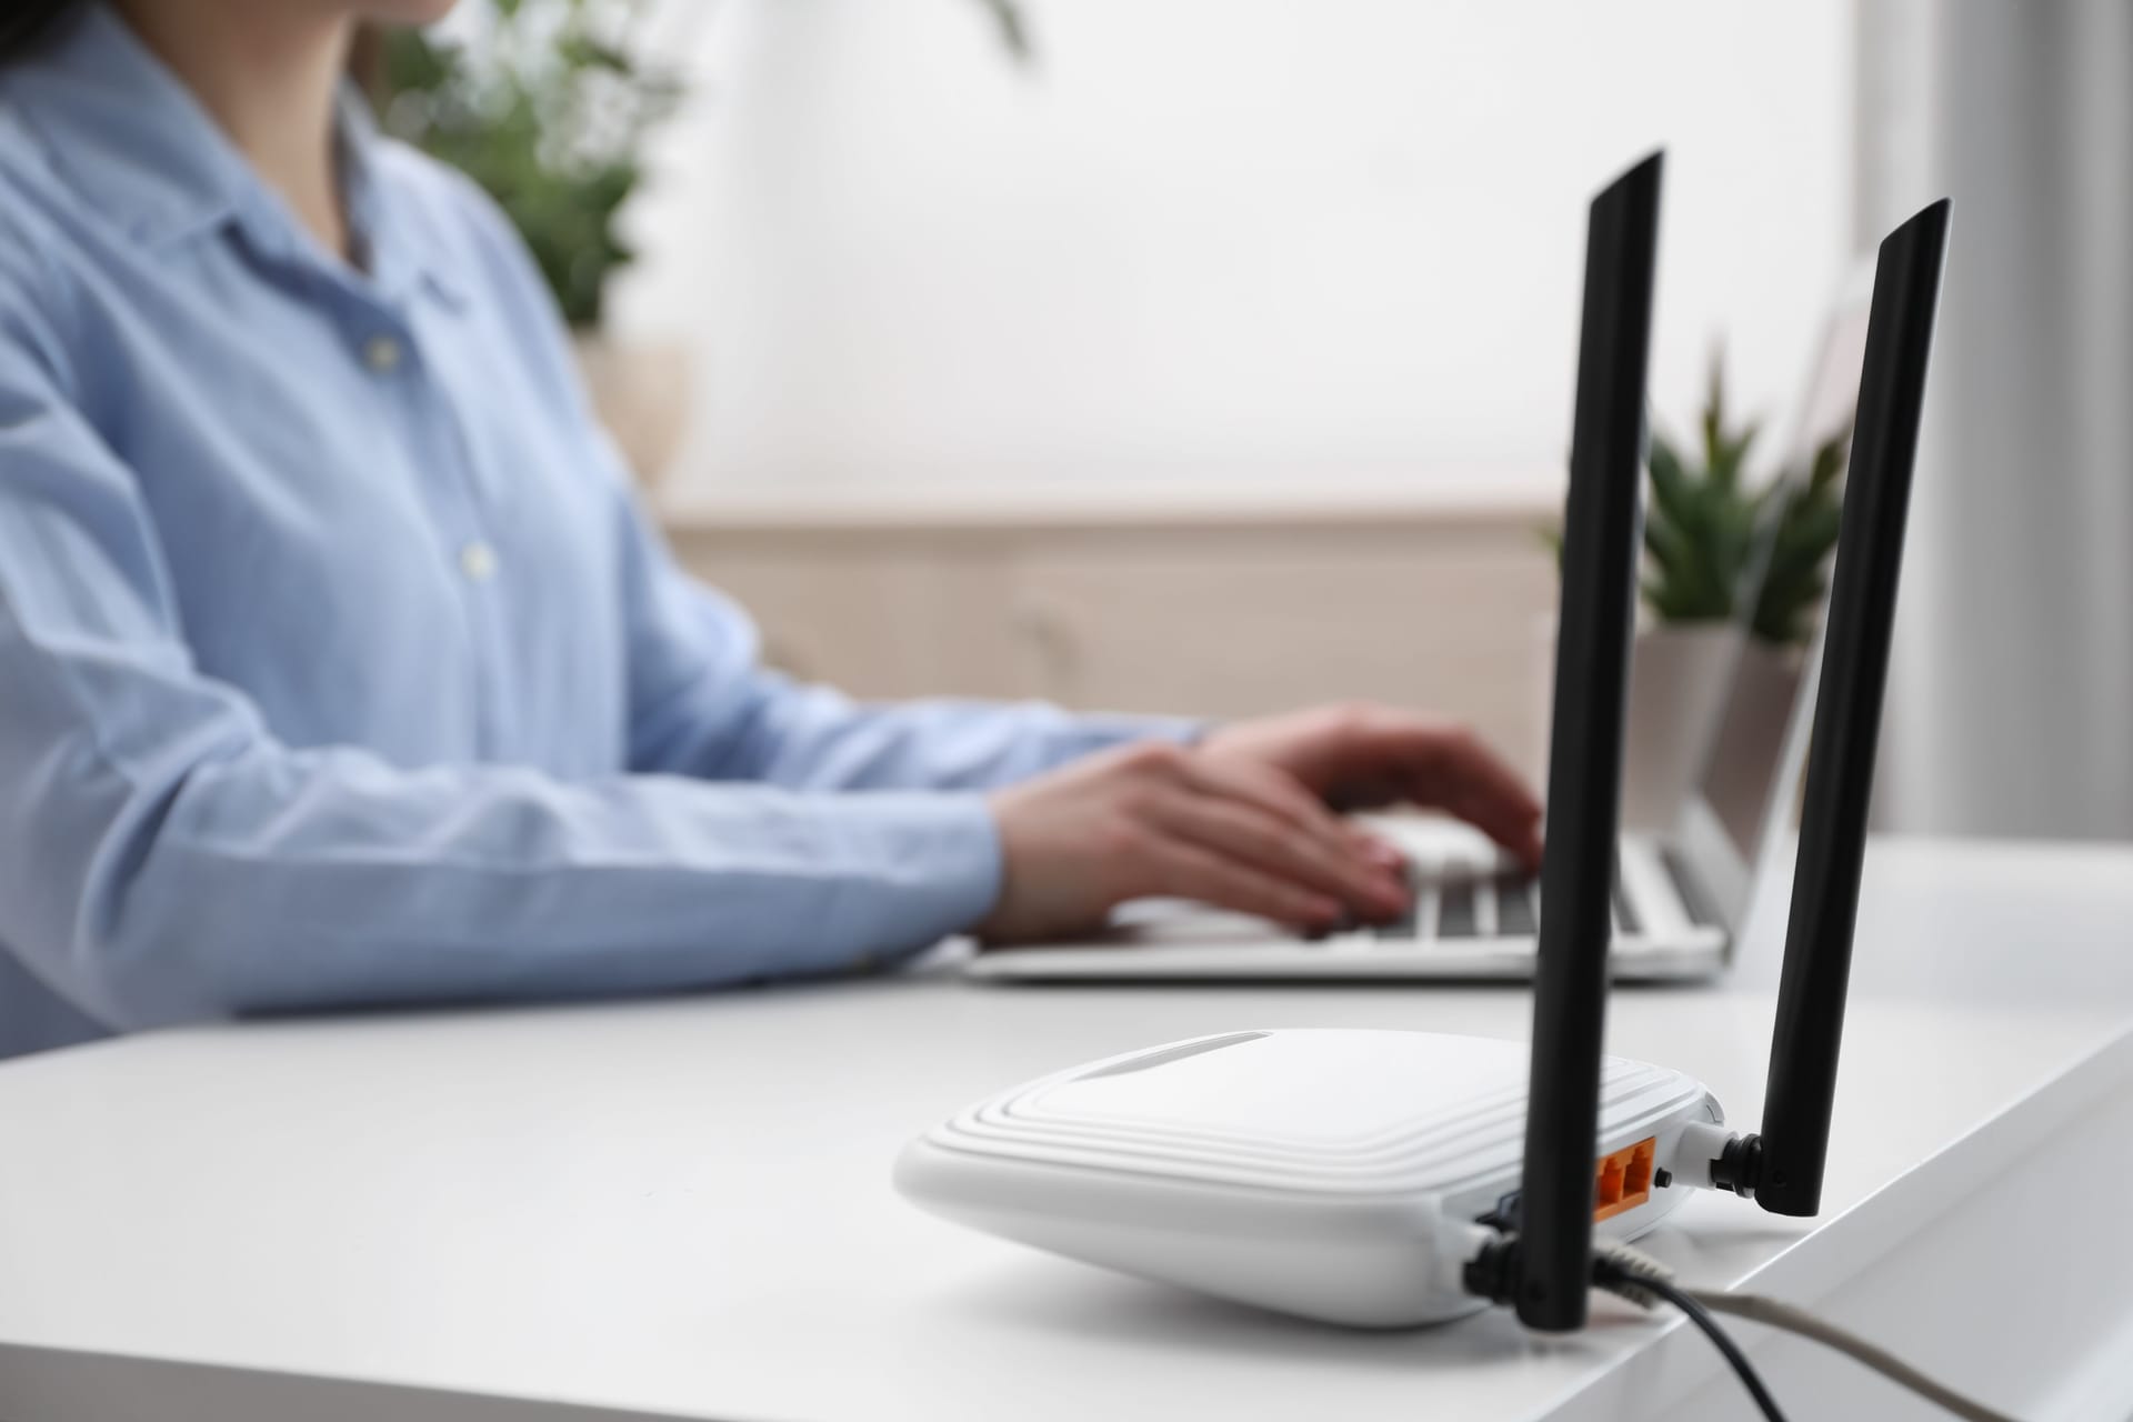
[{"label": "woman's hand nearer the camera, extending from the closer blue cuff", "polygon": [[992,795],[1003,883],[988,944],[1086,934],[1135,898],[1322,932],[1408,906],[1399,853],[1295,778],[1169,742],[1092,755]]}]

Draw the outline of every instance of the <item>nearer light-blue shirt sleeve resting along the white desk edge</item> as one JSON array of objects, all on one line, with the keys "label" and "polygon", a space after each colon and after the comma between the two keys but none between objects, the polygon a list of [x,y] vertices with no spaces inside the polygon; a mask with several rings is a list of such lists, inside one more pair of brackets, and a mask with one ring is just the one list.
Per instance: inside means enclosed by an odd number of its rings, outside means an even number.
[{"label": "nearer light-blue shirt sleeve resting along the white desk edge", "polygon": [[559,782],[277,742],[196,667],[137,471],[19,305],[0,311],[0,949],[111,1028],[828,972],[924,947],[998,889],[973,793]]}]

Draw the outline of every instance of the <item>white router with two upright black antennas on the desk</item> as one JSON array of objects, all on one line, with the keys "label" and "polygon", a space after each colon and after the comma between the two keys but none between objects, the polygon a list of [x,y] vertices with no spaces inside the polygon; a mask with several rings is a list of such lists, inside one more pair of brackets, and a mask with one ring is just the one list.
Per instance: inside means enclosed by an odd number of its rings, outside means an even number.
[{"label": "white router with two upright black antennas on the desk", "polygon": [[1540,1330],[1585,1324],[1593,1226],[1634,1239],[1689,1187],[1815,1213],[1947,203],[1875,269],[1760,1136],[1694,1077],[1600,1055],[1657,207],[1653,153],[1587,230],[1531,1047],[1269,1030],[1133,1051],[915,1141],[896,1166],[913,1202],[1333,1324],[1514,1303]]}]

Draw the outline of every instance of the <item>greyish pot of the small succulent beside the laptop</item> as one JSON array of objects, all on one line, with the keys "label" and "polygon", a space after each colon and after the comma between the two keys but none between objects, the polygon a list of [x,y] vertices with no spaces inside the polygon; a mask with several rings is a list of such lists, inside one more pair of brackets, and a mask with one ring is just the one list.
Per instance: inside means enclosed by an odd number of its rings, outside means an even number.
[{"label": "greyish pot of the small succulent beside the laptop", "polygon": [[[1745,633],[1732,623],[1653,623],[1630,646],[1630,721],[1623,736],[1621,827],[1662,834],[1689,797],[1711,755],[1726,689]],[[1555,618],[1542,635],[1542,744],[1536,763],[1546,778],[1546,736],[1555,706]]]}]

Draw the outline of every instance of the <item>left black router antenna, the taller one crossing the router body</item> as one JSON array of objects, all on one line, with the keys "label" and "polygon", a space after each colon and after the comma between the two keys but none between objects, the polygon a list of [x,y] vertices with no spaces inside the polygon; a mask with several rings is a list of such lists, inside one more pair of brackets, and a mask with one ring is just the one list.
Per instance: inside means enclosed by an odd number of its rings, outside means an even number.
[{"label": "left black router antenna, the taller one crossing the router body", "polygon": [[1546,1330],[1585,1326],[1591,1273],[1600,1034],[1636,618],[1662,158],[1653,153],[1593,198],[1585,232],[1517,1245],[1519,1320]]}]

